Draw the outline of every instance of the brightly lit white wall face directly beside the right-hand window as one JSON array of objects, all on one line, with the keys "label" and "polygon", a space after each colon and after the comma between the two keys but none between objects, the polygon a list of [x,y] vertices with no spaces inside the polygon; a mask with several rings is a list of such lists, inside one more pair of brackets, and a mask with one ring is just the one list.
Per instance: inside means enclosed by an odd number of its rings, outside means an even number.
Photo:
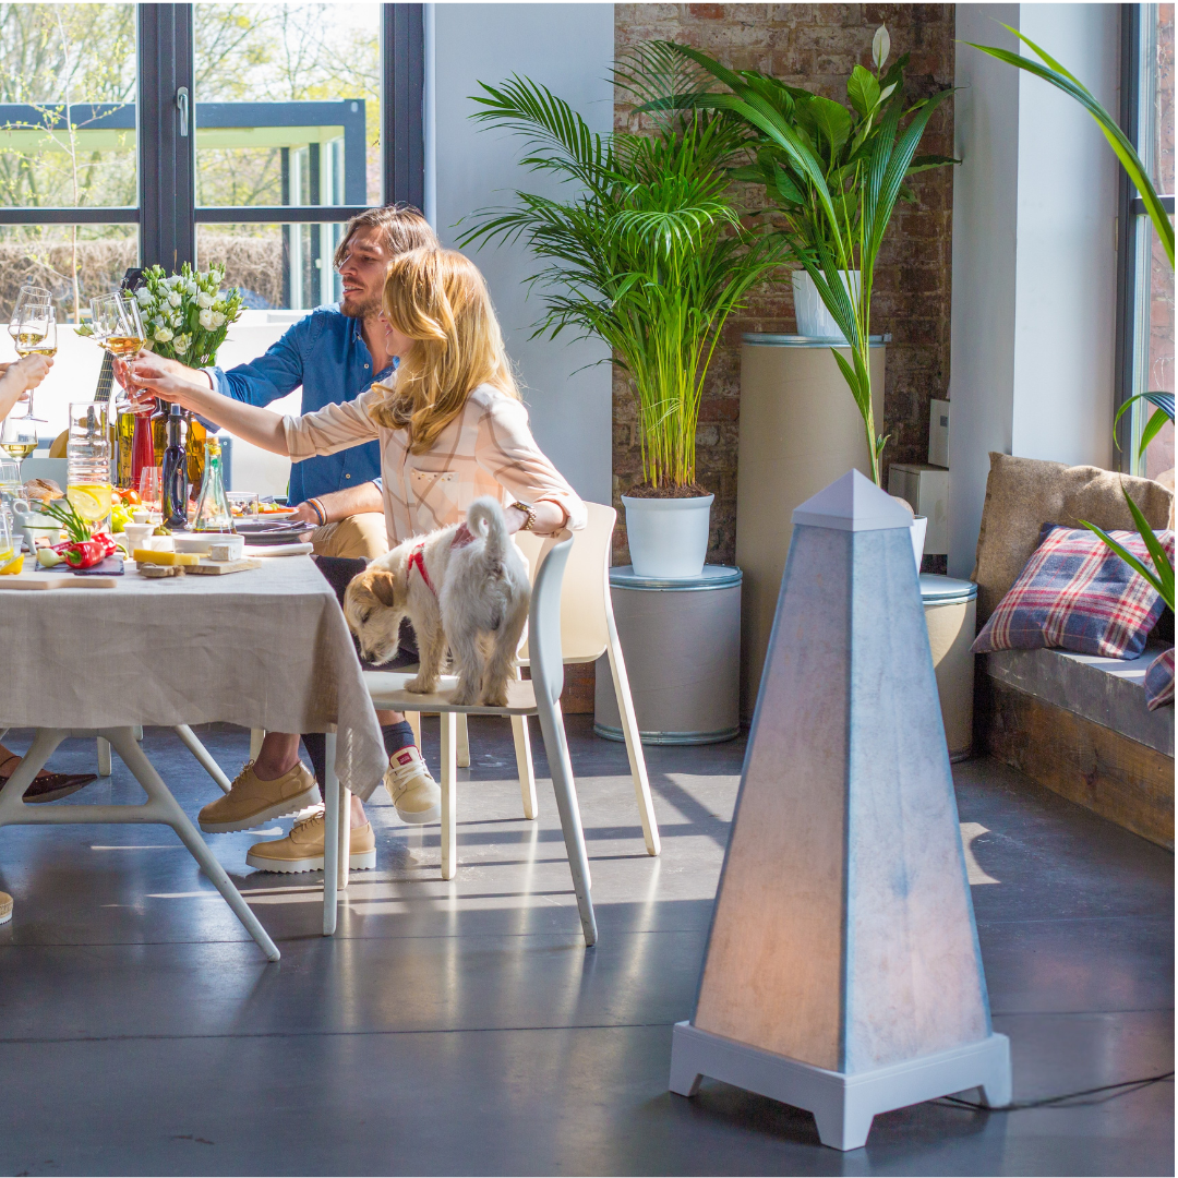
[{"label": "brightly lit white wall face directly beside the right-hand window", "polygon": [[[1118,105],[1116,5],[1026,4],[1020,31]],[[1117,157],[1092,117],[1019,71],[1019,262],[1012,452],[1113,462]]]}]

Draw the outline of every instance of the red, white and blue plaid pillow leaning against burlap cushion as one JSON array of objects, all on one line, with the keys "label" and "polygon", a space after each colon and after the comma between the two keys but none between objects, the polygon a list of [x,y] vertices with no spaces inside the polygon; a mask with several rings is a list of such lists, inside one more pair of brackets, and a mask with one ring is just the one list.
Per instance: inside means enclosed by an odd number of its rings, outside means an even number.
[{"label": "red, white and blue plaid pillow leaning against burlap cushion", "polygon": [[[1150,565],[1145,542],[1136,531],[1110,535]],[[1173,561],[1174,534],[1158,532],[1158,538]],[[1063,647],[1106,659],[1136,659],[1164,608],[1145,578],[1087,528],[1048,523],[971,649],[984,654]]]}]

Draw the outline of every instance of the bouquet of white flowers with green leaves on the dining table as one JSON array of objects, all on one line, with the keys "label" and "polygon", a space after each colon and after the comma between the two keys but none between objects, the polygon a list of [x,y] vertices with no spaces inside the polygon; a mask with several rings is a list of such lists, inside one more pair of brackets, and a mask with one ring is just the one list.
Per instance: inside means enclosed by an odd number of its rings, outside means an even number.
[{"label": "bouquet of white flowers with green leaves on the dining table", "polygon": [[178,274],[165,274],[163,266],[145,270],[135,299],[147,348],[192,368],[212,364],[230,324],[241,316],[241,292],[223,291],[224,277],[223,266],[193,270],[187,263]]}]

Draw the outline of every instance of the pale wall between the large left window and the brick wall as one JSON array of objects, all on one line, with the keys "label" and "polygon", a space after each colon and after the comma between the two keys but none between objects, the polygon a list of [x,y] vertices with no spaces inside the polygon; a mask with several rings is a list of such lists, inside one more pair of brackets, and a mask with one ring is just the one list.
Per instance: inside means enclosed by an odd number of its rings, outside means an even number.
[{"label": "pale wall between the large left window and the brick wall", "polygon": [[[476,209],[508,204],[511,190],[568,194],[567,186],[524,172],[518,139],[479,131],[469,118],[477,81],[496,85],[512,73],[548,86],[595,131],[614,119],[609,67],[614,57],[610,4],[438,4],[426,15],[426,204],[435,227],[455,245],[455,224]],[[432,104],[429,99],[432,97]],[[471,257],[487,276],[544,452],[584,498],[610,502],[611,397],[608,364],[596,340],[529,339],[540,303],[524,279],[535,260],[519,246],[484,247]]]}]

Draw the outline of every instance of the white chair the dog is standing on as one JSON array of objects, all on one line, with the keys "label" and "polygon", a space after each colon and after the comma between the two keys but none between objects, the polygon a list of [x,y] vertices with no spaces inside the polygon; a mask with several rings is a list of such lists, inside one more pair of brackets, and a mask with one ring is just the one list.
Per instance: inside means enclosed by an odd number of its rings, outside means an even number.
[{"label": "white chair the dog is standing on", "polygon": [[[577,908],[581,913],[581,927],[585,944],[594,945],[597,940],[597,922],[594,916],[593,900],[589,894],[589,860],[585,854],[584,833],[581,828],[581,812],[577,808],[576,786],[573,780],[573,766],[569,762],[569,747],[564,735],[564,717],[561,715],[561,691],[564,688],[564,663],[561,659],[561,582],[564,578],[565,564],[573,549],[573,537],[562,532],[554,547],[548,551],[531,594],[531,608],[528,615],[528,629],[531,644],[530,680],[514,680],[508,684],[507,707],[494,708],[479,704],[455,706],[450,696],[457,686],[457,677],[443,676],[435,695],[419,695],[406,691],[405,683],[413,676],[396,671],[364,671],[372,703],[377,709],[390,712],[426,712],[438,713],[442,717],[442,878],[454,879],[458,865],[456,838],[456,796],[458,759],[457,717],[463,715],[511,716],[512,719],[537,716],[540,730],[544,740],[544,752],[548,754],[549,770],[552,775],[552,790],[556,794],[556,808],[561,815],[561,829],[564,832],[564,847],[569,856],[569,869],[573,873],[573,886],[576,891]],[[324,839],[324,878],[340,878],[340,863],[346,863],[348,841],[346,812],[342,809],[342,789],[329,790],[327,808],[335,814],[326,818]],[[338,838],[332,833],[338,830]],[[326,889],[324,902],[329,902]],[[331,900],[333,902],[333,900]],[[324,913],[324,928],[335,924],[333,913]]]}]

